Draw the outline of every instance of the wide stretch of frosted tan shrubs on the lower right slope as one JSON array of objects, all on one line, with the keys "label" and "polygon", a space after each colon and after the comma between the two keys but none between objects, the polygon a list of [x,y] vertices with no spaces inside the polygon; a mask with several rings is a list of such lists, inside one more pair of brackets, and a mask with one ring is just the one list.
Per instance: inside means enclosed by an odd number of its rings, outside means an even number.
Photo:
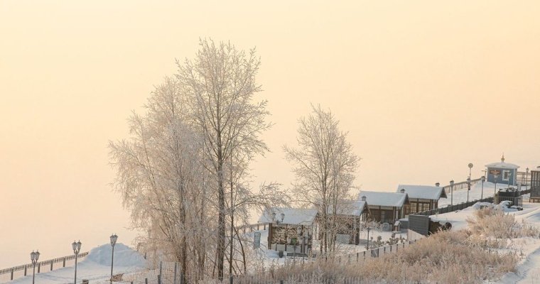
[{"label": "wide stretch of frosted tan shrubs on the lower right slope", "polygon": [[[355,283],[482,283],[514,271],[517,256],[497,253],[475,246],[470,232],[441,231],[416,244],[380,258],[368,258],[356,263],[315,261],[276,269],[274,279],[290,275],[306,283],[340,283],[343,279],[358,279]],[[311,279],[311,280],[309,280]],[[347,280],[349,281],[349,280]],[[257,282],[253,282],[257,283]],[[347,282],[349,283],[349,282]]]}]

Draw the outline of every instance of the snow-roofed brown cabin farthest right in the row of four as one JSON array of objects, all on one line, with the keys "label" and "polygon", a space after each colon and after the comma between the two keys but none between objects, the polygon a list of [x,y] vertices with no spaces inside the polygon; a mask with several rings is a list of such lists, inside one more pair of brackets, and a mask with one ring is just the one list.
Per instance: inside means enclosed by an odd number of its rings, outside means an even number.
[{"label": "snow-roofed brown cabin farthest right in the row of four", "polygon": [[406,193],[405,216],[438,208],[438,200],[447,198],[444,187],[431,185],[398,185],[396,192]]}]

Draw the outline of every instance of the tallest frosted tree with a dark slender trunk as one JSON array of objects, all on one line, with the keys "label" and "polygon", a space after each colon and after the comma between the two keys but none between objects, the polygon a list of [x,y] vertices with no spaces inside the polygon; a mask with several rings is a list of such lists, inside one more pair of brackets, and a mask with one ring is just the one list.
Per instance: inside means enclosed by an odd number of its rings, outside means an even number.
[{"label": "tallest frosted tree with a dark slender trunk", "polygon": [[[222,279],[227,187],[237,188],[252,158],[268,151],[259,137],[269,128],[265,122],[269,114],[266,101],[254,102],[255,94],[261,91],[255,82],[260,60],[255,50],[245,53],[231,43],[216,45],[212,40],[200,40],[195,59],[177,61],[177,65],[180,87],[189,98],[193,122],[202,133],[203,165],[212,178],[212,184],[207,185],[217,193],[216,266]],[[230,198],[234,200],[234,194]]]}]

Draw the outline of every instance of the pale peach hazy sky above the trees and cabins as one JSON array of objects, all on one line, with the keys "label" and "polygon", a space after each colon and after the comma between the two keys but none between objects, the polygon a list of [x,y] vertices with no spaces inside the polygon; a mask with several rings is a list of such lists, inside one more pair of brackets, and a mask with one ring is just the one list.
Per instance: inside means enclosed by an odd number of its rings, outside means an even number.
[{"label": "pale peach hazy sky above the trees and cabins", "polygon": [[[539,1],[0,0],[0,268],[131,244],[107,143],[200,37],[257,47],[271,148],[254,185],[289,185],[310,103],[362,157],[357,185],[465,180],[540,165]],[[197,3],[195,3],[197,2]]]}]

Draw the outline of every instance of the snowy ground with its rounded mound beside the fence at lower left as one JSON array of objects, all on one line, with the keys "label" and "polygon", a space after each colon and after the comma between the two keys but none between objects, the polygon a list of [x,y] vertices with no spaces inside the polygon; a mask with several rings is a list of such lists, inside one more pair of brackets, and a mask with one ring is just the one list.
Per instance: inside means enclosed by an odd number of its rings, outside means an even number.
[{"label": "snowy ground with its rounded mound beside the fence at lower left", "polygon": [[[110,244],[104,244],[92,249],[88,256],[77,264],[77,283],[82,279],[90,280],[90,283],[109,283],[111,275]],[[146,260],[136,251],[124,244],[116,244],[114,247],[114,275],[119,273],[134,273],[146,268]],[[58,284],[73,283],[75,266],[59,268],[48,273],[36,273],[36,283]],[[32,274],[13,280],[10,283],[32,283]]]}]

